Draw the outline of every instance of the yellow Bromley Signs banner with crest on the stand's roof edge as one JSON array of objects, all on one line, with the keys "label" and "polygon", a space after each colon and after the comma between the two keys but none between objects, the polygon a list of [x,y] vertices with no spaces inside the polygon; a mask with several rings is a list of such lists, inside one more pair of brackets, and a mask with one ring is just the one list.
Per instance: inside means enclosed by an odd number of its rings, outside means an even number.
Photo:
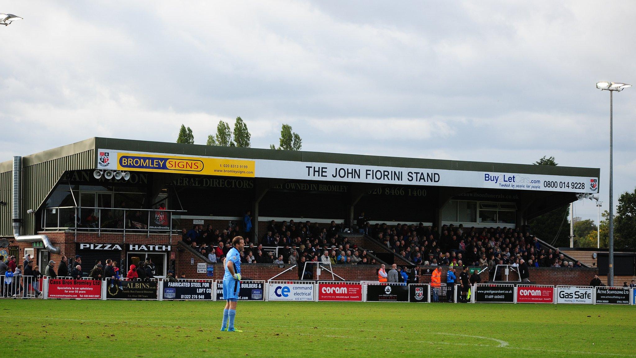
[{"label": "yellow Bromley Signs banner with crest on the stand's roof edge", "polygon": [[180,157],[162,154],[121,153],[109,150],[99,150],[97,154],[97,166],[103,169],[254,177],[254,161],[242,159]]}]

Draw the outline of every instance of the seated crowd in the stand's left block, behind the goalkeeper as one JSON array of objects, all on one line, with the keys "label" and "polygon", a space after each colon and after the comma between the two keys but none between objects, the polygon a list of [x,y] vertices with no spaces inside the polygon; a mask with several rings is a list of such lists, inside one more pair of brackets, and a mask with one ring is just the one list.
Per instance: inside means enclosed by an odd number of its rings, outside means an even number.
[{"label": "seated crowd in the stand's left block, behind the goalkeeper", "polygon": [[[341,227],[334,221],[328,227],[319,227],[310,221],[270,221],[258,245],[239,226],[204,229],[195,225],[190,230],[182,229],[182,240],[211,262],[221,262],[232,248],[232,239],[243,236],[245,248],[241,262],[245,264],[298,264],[299,262],[331,262],[331,264],[377,264],[366,250],[340,236]],[[300,267],[301,265],[299,265]],[[304,266],[304,264],[302,264]]]}]

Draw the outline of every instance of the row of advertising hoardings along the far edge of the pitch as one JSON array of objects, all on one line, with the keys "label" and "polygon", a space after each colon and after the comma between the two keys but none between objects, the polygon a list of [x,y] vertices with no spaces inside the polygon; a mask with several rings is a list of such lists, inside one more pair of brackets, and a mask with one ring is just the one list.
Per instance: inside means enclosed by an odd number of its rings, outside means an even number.
[{"label": "row of advertising hoardings along the far edge of the pitch", "polygon": [[[48,279],[47,298],[58,299],[162,299],[223,300],[223,283],[212,280],[179,280],[178,282]],[[120,288],[121,284],[121,288]],[[242,281],[242,301],[371,301],[429,302],[428,284],[399,283],[297,283]],[[104,295],[105,294],[105,295]],[[540,285],[476,285],[477,303],[567,303],[567,304],[636,304],[636,290],[629,287],[540,286]]]}]

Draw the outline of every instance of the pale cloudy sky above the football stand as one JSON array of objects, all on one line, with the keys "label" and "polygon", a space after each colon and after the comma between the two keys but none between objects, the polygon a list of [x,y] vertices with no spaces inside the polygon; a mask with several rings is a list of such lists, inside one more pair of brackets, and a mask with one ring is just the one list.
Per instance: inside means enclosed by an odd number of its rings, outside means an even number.
[{"label": "pale cloudy sky above the football stand", "polygon": [[[628,1],[3,1],[0,161],[93,136],[601,169],[636,85]],[[636,86],[614,96],[614,196],[636,186]],[[591,201],[575,215],[596,220]]]}]

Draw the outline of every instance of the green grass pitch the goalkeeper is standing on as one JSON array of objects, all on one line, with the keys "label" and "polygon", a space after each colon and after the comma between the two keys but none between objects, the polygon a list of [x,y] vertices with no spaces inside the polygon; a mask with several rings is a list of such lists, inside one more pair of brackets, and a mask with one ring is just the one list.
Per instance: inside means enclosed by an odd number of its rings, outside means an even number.
[{"label": "green grass pitch the goalkeeper is standing on", "polygon": [[1,300],[0,356],[636,357],[636,307]]}]

